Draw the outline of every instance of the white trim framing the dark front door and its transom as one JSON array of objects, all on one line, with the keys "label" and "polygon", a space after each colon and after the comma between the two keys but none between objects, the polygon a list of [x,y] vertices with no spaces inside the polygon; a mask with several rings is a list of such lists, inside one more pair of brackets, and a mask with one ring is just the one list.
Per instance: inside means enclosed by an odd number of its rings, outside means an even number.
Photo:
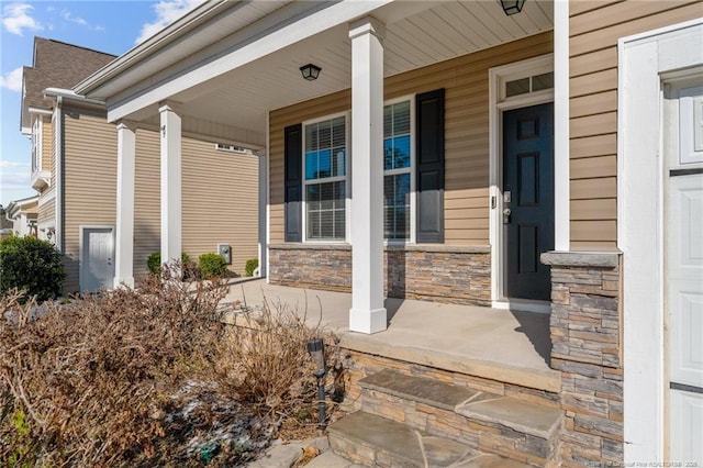
[{"label": "white trim framing the dark front door and its transom", "polygon": [[491,305],[495,309],[543,313],[551,311],[550,303],[547,301],[511,300],[505,297],[505,255],[503,254],[505,241],[501,213],[503,212],[503,111],[554,102],[554,90],[533,92],[524,97],[501,101],[501,87],[506,78],[553,70],[554,54],[489,69],[489,237],[491,244]]}]

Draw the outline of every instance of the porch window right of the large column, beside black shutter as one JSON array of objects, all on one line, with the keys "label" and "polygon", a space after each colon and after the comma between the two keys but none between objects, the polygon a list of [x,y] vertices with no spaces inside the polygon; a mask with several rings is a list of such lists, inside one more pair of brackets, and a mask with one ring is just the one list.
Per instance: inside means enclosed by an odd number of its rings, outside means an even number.
[{"label": "porch window right of the large column, beside black shutter", "polygon": [[412,138],[410,101],[383,108],[383,233],[410,239]]}]

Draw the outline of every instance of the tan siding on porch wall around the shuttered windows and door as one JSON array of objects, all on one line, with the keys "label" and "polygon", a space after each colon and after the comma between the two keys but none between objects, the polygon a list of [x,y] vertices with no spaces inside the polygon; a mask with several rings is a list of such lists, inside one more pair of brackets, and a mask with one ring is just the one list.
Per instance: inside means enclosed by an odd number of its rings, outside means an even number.
[{"label": "tan siding on porch wall around the shuttered windows and door", "polygon": [[[386,79],[386,99],[446,90],[446,244],[489,244],[489,68],[551,49],[551,33],[545,33]],[[343,91],[270,113],[271,243],[283,242],[283,129],[349,108],[349,91]]]}]

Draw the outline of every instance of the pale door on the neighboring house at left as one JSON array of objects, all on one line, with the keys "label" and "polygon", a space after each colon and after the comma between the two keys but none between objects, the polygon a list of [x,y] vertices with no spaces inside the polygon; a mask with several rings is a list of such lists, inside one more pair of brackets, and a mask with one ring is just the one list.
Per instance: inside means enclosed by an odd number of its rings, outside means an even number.
[{"label": "pale door on the neighboring house at left", "polygon": [[80,291],[112,288],[114,242],[112,227],[83,227]]}]

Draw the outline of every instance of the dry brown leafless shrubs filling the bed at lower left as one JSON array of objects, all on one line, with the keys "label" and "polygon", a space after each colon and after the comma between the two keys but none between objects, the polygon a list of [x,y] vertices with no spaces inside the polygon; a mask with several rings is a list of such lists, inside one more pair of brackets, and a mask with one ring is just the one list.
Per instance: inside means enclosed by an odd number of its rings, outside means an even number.
[{"label": "dry brown leafless shrubs filling the bed at lower left", "polygon": [[305,345],[324,336],[338,370],[334,337],[283,305],[224,325],[224,282],[183,278],[67,305],[0,297],[0,465],[235,466],[315,430]]}]

